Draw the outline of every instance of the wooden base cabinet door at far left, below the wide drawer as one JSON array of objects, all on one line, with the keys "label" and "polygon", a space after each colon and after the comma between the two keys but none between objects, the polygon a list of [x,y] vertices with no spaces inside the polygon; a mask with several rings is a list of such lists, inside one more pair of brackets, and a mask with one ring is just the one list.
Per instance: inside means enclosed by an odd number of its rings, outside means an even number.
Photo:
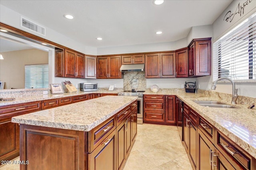
[{"label": "wooden base cabinet door at far left, below the wide drawer", "polygon": [[[20,127],[11,118],[0,121],[0,161],[12,160],[20,155]],[[1,164],[0,164],[1,165]]]}]

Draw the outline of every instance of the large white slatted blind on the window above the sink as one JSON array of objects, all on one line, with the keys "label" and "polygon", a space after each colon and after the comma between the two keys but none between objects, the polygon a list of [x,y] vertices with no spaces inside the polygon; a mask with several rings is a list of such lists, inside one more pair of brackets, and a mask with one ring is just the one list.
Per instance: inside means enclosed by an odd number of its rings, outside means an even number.
[{"label": "large white slatted blind on the window above the sink", "polygon": [[213,80],[256,79],[256,13],[214,43]]}]

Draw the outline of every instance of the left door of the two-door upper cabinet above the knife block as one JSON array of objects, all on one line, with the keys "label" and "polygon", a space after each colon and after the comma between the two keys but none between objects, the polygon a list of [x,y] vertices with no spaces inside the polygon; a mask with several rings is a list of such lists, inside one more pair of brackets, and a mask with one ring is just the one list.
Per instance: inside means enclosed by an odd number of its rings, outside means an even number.
[{"label": "left door of the two-door upper cabinet above the knife block", "polygon": [[74,78],[76,76],[76,53],[74,51],[65,49],[64,66],[64,77]]}]

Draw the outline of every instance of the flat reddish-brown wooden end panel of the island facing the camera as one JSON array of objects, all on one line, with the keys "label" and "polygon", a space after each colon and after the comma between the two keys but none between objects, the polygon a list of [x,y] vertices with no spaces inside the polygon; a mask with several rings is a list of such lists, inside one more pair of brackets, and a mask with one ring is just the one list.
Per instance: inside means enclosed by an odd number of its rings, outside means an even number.
[{"label": "flat reddish-brown wooden end panel of the island facing the camera", "polygon": [[83,131],[20,125],[20,170],[86,170]]}]

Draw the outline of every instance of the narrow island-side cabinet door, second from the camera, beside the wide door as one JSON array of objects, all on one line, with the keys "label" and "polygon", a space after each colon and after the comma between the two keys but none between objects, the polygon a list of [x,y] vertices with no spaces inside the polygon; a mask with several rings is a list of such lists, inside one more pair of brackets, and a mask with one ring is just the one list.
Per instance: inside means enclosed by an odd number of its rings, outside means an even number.
[{"label": "narrow island-side cabinet door, second from the camera, beside the wide door", "polygon": [[116,169],[122,169],[122,166],[125,162],[126,156],[126,142],[125,142],[125,121],[123,121],[117,128],[116,128]]}]

